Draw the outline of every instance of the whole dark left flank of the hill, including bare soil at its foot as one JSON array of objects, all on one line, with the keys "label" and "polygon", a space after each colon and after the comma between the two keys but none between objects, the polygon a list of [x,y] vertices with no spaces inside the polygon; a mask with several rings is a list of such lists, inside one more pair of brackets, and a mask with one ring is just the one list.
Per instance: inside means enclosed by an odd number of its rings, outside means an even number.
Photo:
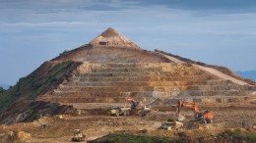
[{"label": "whole dark left flank of the hill, including bare soil at its foot", "polygon": [[[41,106],[41,102],[36,102],[34,99],[56,88],[60,82],[65,80],[65,76],[69,74],[69,71],[80,64],[74,62],[45,62],[37,70],[21,78],[15,86],[0,94],[0,123],[31,121],[39,118],[38,113],[36,113],[36,118],[34,117],[34,111],[38,112],[37,106]],[[43,103],[42,105],[47,104]],[[43,113],[42,116],[51,112],[51,107],[56,108],[58,106],[56,104],[48,104],[46,107],[47,112]],[[23,116],[20,117],[19,115]]]}]

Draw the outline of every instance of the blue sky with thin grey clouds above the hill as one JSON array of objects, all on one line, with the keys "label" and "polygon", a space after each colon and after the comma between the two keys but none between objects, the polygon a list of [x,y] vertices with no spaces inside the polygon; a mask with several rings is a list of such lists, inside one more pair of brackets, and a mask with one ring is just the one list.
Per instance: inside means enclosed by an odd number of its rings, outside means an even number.
[{"label": "blue sky with thin grey clouds above the hill", "polygon": [[113,27],[146,50],[256,70],[255,0],[0,0],[0,83]]}]

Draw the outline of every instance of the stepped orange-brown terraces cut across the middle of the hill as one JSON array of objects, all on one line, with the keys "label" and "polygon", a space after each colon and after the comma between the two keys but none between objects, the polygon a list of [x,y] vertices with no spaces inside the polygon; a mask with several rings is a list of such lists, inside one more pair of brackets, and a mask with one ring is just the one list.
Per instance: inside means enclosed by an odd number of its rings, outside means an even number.
[{"label": "stepped orange-brown terraces cut across the middle of the hill", "polygon": [[84,63],[73,71],[68,82],[40,99],[61,103],[122,103],[126,96],[151,101],[153,98],[238,95],[253,89],[186,64]]}]

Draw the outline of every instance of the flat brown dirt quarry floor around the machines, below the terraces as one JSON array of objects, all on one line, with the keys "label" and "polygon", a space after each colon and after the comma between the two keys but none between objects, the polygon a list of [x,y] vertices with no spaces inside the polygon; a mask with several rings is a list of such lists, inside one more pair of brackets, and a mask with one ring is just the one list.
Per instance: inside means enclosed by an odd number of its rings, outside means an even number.
[{"label": "flat brown dirt quarry floor around the machines, below the terraces", "polygon": [[[30,125],[30,123],[19,125],[2,125],[0,126],[0,135],[8,134],[8,132],[10,131],[22,130],[31,134],[32,139],[28,139],[28,142],[70,142],[73,130],[76,128],[80,128],[87,134],[88,141],[99,138],[95,140],[95,142],[100,142],[102,140],[109,139],[109,133],[115,134],[116,131],[121,131],[121,134],[128,134],[133,137],[135,136],[135,138],[136,136],[158,136],[160,139],[167,138],[167,140],[170,140],[171,138],[173,139],[174,137],[175,140],[172,141],[176,142],[179,142],[181,140],[187,140],[188,142],[202,142],[202,138],[204,138],[205,141],[213,140],[212,142],[224,142],[224,140],[229,141],[230,135],[232,135],[234,131],[233,129],[231,132],[229,131],[228,134],[228,130],[224,128],[248,128],[253,123],[255,123],[255,104],[212,104],[202,105],[201,109],[211,110],[215,114],[215,123],[221,125],[218,125],[214,128],[198,131],[160,131],[158,130],[160,124],[166,121],[166,119],[174,119],[175,111],[155,110],[148,114],[146,117],[140,117],[136,113],[130,117],[111,117],[107,114],[108,112],[105,111],[106,113],[98,113],[99,115],[95,116],[64,115],[64,119],[49,117],[40,119],[38,121],[35,120],[35,122],[32,123],[34,125]],[[182,111],[182,115],[186,117],[186,120],[183,120],[185,124],[188,123],[187,121],[189,119],[193,119],[193,111],[184,109]],[[41,124],[47,124],[47,126],[43,128],[41,127]],[[251,136],[253,138],[253,136],[255,135],[254,131],[255,130],[253,129],[239,129],[239,136],[237,134],[237,136],[234,135],[233,140],[236,140],[237,142],[241,140],[251,142],[251,138],[248,139],[246,138],[246,136],[252,134]],[[117,132],[117,134],[120,135],[120,132]],[[122,137],[122,135],[120,136],[121,138],[124,138]]]}]

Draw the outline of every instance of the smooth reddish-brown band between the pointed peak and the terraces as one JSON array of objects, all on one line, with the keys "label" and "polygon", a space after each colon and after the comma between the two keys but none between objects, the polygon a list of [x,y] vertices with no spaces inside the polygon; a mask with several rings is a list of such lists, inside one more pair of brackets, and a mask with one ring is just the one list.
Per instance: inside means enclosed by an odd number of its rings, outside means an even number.
[{"label": "smooth reddish-brown band between the pointed peak and the terraces", "polygon": [[93,47],[90,44],[66,52],[52,62],[79,61],[89,63],[169,63],[159,53],[131,48]]}]

